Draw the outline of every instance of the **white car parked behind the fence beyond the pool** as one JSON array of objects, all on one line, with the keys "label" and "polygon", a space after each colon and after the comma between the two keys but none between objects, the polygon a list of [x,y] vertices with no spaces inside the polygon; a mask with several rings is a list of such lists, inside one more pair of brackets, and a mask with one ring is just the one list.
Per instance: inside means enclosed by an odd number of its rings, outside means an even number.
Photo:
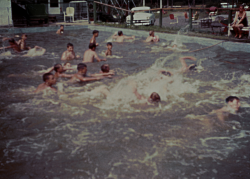
[{"label": "white car parked behind the fence beyond the pool", "polygon": [[[144,11],[139,11],[144,10]],[[155,15],[150,11],[150,7],[134,7],[131,11],[139,11],[135,12],[133,15],[133,24],[134,25],[154,25],[155,23]],[[130,25],[130,15],[126,17],[127,25]]]}]

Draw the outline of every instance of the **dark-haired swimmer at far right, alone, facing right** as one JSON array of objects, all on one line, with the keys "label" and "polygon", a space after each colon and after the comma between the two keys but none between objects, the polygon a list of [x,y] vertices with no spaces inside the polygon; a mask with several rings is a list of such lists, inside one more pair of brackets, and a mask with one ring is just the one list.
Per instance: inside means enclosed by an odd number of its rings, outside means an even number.
[{"label": "dark-haired swimmer at far right, alone, facing right", "polygon": [[221,109],[212,111],[212,113],[216,113],[217,117],[224,121],[224,118],[228,116],[229,113],[236,114],[240,108],[240,100],[236,96],[229,96],[226,98],[227,106],[224,106]]}]

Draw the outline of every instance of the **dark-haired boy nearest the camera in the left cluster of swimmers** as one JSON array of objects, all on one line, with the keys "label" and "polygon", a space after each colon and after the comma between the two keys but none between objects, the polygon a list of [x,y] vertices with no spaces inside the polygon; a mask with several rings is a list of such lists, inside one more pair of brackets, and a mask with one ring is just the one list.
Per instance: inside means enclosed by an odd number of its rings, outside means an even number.
[{"label": "dark-haired boy nearest the camera in the left cluster of swimmers", "polygon": [[40,84],[37,87],[37,89],[34,91],[34,93],[38,93],[38,92],[43,91],[45,89],[50,89],[52,91],[57,92],[57,90],[52,87],[52,85],[56,84],[56,79],[52,73],[45,73],[43,75],[43,81],[44,81],[44,83]]}]

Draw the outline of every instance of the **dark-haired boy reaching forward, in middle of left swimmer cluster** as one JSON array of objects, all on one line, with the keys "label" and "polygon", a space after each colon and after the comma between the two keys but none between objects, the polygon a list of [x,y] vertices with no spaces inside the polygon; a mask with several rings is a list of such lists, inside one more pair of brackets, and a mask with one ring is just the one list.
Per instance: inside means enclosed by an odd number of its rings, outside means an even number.
[{"label": "dark-haired boy reaching forward, in middle of left swimmer cluster", "polygon": [[95,80],[100,80],[103,77],[99,76],[99,77],[86,77],[87,74],[87,65],[84,63],[79,63],[77,65],[77,73],[74,74],[72,76],[72,78],[70,79],[70,82],[75,82],[75,81],[83,81],[83,82],[87,82],[87,81],[95,81]]}]

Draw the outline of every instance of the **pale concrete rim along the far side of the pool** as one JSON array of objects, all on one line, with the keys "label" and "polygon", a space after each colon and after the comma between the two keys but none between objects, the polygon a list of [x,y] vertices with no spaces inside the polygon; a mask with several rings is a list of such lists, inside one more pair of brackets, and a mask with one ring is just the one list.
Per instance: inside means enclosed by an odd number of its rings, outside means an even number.
[{"label": "pale concrete rim along the far side of the pool", "polygon": [[[133,30],[133,29],[121,29],[110,26],[100,26],[95,24],[88,24],[88,22],[79,22],[79,23],[65,23],[58,22],[50,25],[48,27],[27,27],[27,28],[0,28],[0,34],[20,34],[20,33],[35,33],[35,32],[48,32],[58,30],[60,25],[64,25],[65,30],[80,30],[80,29],[90,29],[90,30],[99,30],[106,32],[116,32],[122,30],[125,35],[135,35],[136,37],[146,38],[148,36],[148,31],[144,30]],[[156,35],[159,36],[160,39],[165,39],[167,41],[175,40],[177,34],[168,34],[162,32],[155,32]],[[225,40],[216,40],[204,37],[195,37],[195,36],[186,36],[179,35],[181,42],[183,43],[199,43],[205,46],[212,46],[217,43],[217,46],[223,47],[228,51],[243,51],[249,52],[250,43],[241,43],[241,42],[231,42]]]}]

